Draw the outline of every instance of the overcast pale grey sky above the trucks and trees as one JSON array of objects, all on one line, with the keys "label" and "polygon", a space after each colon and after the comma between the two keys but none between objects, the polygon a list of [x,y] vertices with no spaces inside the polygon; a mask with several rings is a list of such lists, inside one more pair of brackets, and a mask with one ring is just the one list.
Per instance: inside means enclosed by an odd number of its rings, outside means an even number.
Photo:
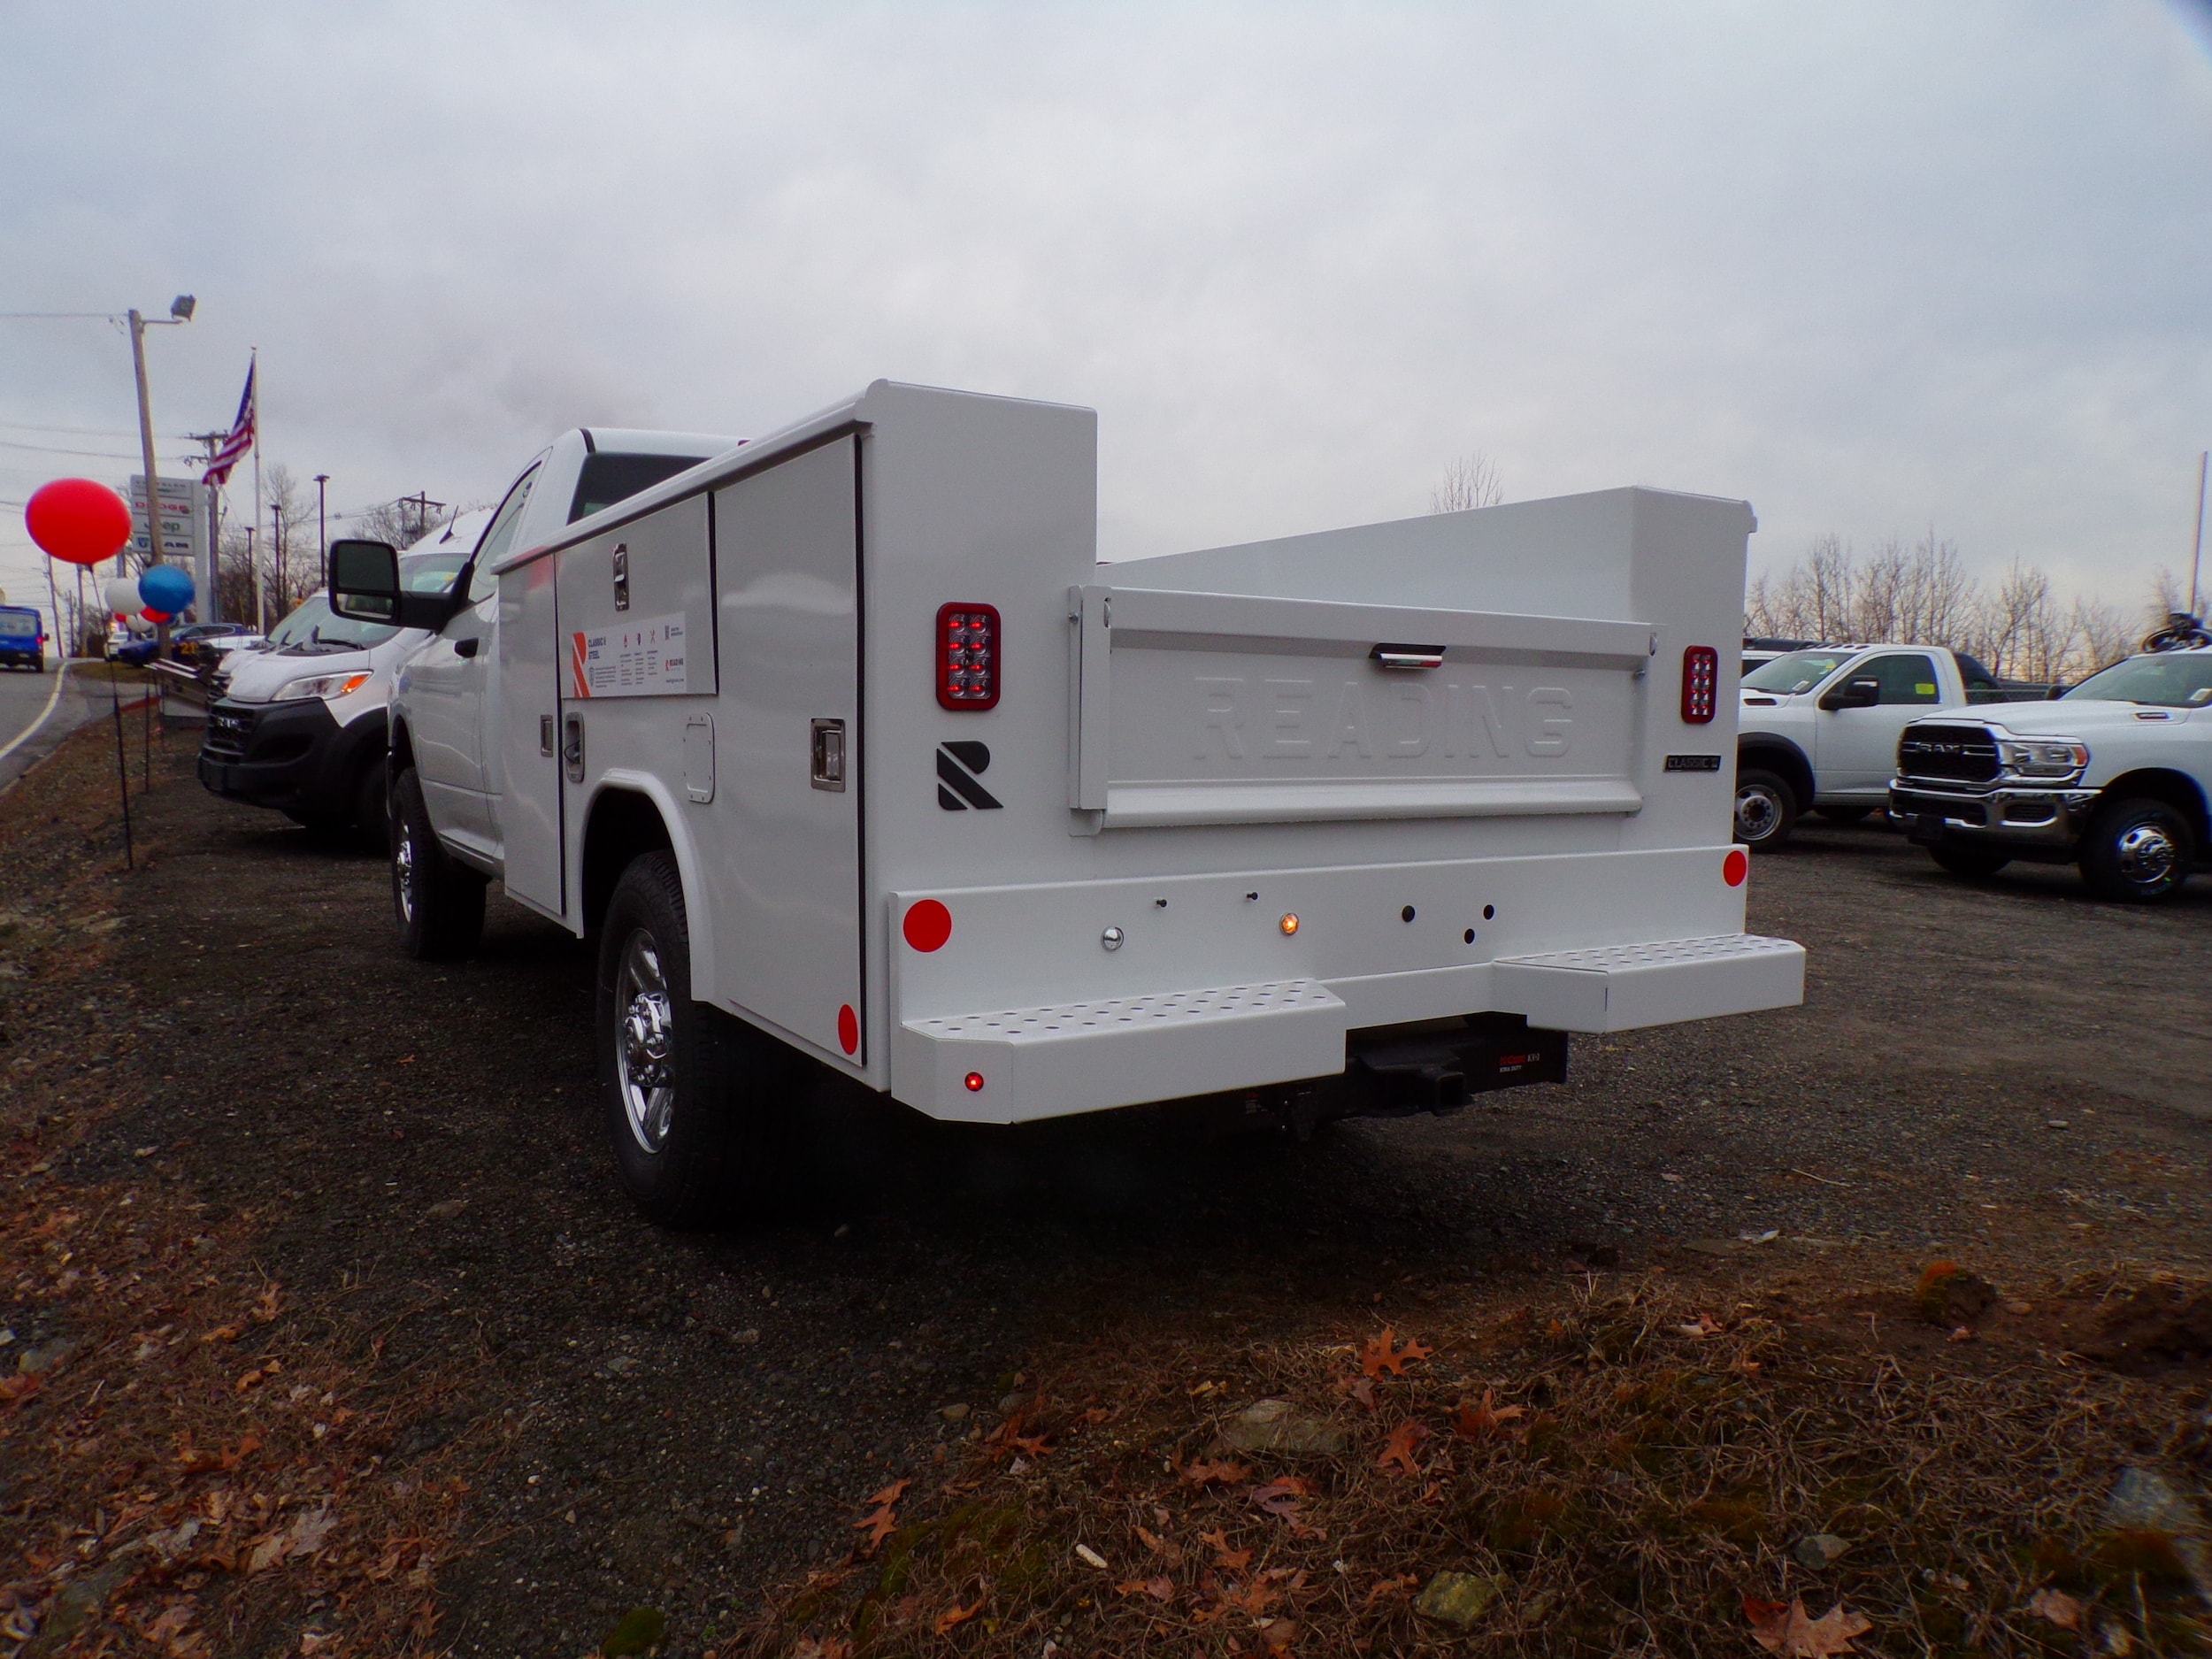
[{"label": "overcast pale grey sky above the trucks and trees", "polygon": [[[265,453],[334,509],[891,376],[1095,407],[1108,557],[1418,513],[1482,449],[1515,500],[1745,495],[1754,568],[1933,524],[2135,606],[2212,442],[2208,40],[2157,0],[0,0],[0,312],[197,294],[157,427],[228,425],[259,345]],[[0,586],[133,418],[111,327],[0,321]]]}]

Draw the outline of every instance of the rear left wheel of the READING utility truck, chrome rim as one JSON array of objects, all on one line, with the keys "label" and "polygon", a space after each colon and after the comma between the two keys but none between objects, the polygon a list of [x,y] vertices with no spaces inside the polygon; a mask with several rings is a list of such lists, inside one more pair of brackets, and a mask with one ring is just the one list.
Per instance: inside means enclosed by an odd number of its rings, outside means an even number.
[{"label": "rear left wheel of the READING utility truck, chrome rim", "polygon": [[796,1057],[692,1002],[684,883],[666,852],[615,883],[599,933],[599,1106],[622,1186],[664,1228],[710,1228],[787,1197],[779,1106]]}]

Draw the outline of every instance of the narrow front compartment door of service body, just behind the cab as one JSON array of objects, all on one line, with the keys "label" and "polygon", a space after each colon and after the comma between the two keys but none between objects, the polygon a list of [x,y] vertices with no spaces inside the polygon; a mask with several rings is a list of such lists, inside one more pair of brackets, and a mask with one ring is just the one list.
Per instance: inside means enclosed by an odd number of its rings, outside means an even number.
[{"label": "narrow front compartment door of service body, just behind the cab", "polygon": [[500,730],[487,748],[504,754],[500,796],[507,896],[568,920],[562,883],[560,611],[553,560],[531,560],[500,577]]}]

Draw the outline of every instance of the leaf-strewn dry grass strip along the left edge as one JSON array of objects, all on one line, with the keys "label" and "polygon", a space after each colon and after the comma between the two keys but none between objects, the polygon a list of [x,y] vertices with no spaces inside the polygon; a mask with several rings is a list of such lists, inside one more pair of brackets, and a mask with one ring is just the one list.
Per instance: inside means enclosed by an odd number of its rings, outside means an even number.
[{"label": "leaf-strewn dry grass strip along the left edge", "polygon": [[106,1018],[111,745],[80,732],[0,799],[0,1652],[434,1652],[482,1447],[394,1453],[467,1365],[400,1371],[378,1332],[296,1310],[254,1265],[261,1217],[155,1148],[84,1161],[150,1086]]}]

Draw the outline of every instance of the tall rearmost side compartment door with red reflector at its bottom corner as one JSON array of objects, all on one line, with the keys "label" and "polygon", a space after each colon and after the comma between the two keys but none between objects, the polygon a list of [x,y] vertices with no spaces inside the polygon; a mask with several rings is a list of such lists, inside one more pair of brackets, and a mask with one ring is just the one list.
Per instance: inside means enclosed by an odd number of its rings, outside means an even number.
[{"label": "tall rearmost side compartment door with red reflector at its bottom corner", "polygon": [[867,1064],[858,438],[714,493],[723,998]]}]

